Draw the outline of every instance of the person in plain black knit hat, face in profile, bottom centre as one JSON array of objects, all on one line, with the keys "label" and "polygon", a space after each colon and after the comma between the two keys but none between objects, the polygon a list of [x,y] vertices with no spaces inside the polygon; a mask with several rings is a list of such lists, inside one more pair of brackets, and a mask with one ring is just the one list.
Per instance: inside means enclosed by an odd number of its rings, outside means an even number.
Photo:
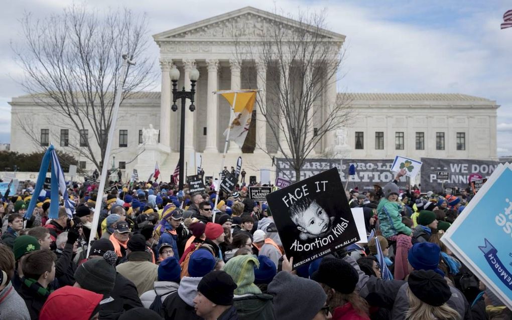
[{"label": "person in plain black knit hat, face in profile, bottom centre", "polygon": [[196,314],[205,319],[231,319],[237,317],[233,306],[233,291],[237,285],[225,271],[206,274],[197,286],[194,298]]}]

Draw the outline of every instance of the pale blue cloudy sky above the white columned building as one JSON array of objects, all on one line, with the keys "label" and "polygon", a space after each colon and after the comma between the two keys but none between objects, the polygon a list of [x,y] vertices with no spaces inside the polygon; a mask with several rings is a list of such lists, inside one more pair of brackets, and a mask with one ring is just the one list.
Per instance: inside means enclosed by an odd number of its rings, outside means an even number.
[{"label": "pale blue cloudy sky above the white columned building", "polygon": [[[0,13],[0,143],[10,142],[12,97],[25,94],[12,45],[23,46],[19,19],[60,13],[69,0],[21,0]],[[148,18],[148,37],[246,6],[296,14],[327,9],[327,29],[347,36],[344,92],[461,93],[495,100],[498,155],[512,155],[512,28],[500,30],[505,0],[88,0],[93,10],[122,6]],[[158,46],[150,53],[159,72]],[[153,90],[159,90],[159,79]]]}]

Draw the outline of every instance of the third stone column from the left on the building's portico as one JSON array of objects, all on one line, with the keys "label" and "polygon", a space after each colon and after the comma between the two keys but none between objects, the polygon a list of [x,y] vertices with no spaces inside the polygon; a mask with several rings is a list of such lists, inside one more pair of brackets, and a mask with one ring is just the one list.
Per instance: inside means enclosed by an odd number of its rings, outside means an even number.
[{"label": "third stone column from the left on the building's portico", "polygon": [[208,87],[206,90],[206,147],[205,153],[218,153],[217,144],[217,95],[213,92],[218,88],[218,59],[207,59],[206,67],[208,69]]}]

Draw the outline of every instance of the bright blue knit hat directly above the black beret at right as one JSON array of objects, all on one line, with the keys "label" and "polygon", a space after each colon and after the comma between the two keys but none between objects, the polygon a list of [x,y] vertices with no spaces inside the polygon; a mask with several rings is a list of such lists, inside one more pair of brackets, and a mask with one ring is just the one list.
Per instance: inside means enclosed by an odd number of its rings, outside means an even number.
[{"label": "bright blue knit hat directly above the black beret at right", "polygon": [[439,269],[439,259],[441,257],[441,248],[431,242],[415,243],[407,259],[415,270],[434,270],[444,276],[444,272]]}]

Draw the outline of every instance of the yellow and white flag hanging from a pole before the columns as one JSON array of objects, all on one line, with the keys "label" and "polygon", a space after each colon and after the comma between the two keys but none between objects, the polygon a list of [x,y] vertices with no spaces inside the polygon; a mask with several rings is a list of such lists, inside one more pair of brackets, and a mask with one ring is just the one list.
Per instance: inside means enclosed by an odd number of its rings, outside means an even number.
[{"label": "yellow and white flag hanging from a pole before the columns", "polygon": [[231,123],[224,131],[224,137],[229,135],[230,141],[242,147],[249,132],[257,90],[229,90],[218,93],[229,102],[231,112],[234,113],[231,115]]}]

